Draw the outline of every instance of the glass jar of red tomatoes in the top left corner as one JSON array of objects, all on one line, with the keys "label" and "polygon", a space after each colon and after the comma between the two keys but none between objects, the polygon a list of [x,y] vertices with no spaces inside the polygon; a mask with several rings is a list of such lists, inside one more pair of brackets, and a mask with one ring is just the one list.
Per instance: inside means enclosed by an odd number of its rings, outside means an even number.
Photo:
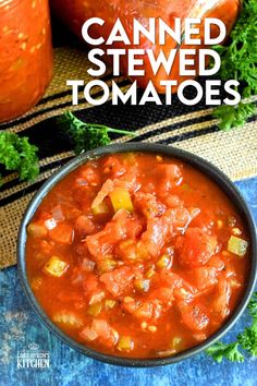
[{"label": "glass jar of red tomatoes in the top left corner", "polygon": [[35,106],[51,75],[48,0],[0,0],[0,122]]}]

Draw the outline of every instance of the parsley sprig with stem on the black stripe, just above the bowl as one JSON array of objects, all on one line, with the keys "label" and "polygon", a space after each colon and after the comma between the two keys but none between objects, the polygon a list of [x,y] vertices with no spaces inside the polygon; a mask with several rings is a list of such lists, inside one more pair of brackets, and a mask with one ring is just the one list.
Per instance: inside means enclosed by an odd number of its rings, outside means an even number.
[{"label": "parsley sprig with stem on the black stripe, just above the bowl", "polygon": [[111,142],[109,133],[134,135],[130,131],[112,129],[103,124],[83,122],[71,111],[64,112],[58,118],[57,122],[61,131],[74,146],[75,154],[108,145]]}]

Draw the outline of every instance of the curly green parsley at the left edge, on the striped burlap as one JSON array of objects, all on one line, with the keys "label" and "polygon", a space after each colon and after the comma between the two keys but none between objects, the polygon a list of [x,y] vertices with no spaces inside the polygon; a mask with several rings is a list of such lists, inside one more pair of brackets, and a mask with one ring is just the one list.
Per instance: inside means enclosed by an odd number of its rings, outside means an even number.
[{"label": "curly green parsley at the left edge, on the striped burlap", "polygon": [[17,171],[20,180],[34,180],[38,176],[37,150],[27,137],[0,131],[0,164],[7,170]]}]

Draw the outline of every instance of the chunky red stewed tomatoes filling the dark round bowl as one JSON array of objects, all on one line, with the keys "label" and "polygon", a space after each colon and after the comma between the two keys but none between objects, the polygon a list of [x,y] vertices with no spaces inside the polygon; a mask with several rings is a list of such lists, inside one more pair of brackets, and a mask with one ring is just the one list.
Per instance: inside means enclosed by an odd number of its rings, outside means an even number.
[{"label": "chunky red stewed tomatoes filling the dark round bowl", "polygon": [[248,234],[230,198],[178,159],[89,160],[44,198],[26,266],[47,315],[76,341],[131,358],[215,333],[244,292]]}]

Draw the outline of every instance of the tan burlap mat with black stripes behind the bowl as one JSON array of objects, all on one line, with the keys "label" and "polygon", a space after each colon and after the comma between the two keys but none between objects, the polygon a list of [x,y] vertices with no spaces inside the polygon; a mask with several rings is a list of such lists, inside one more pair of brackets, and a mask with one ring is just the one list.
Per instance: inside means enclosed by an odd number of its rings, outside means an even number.
[{"label": "tan burlap mat with black stripes behind the bowl", "polygon": [[[4,177],[0,191],[0,268],[16,263],[17,229],[23,213],[41,183],[72,156],[70,144],[60,135],[56,117],[70,109],[88,122],[106,123],[114,128],[133,130],[133,141],[158,142],[184,148],[213,162],[232,180],[257,174],[257,120],[254,117],[244,128],[221,132],[211,109],[204,101],[196,107],[185,107],[174,97],[172,106],[102,106],[90,107],[79,93],[81,104],[71,106],[68,79],[89,79],[86,55],[76,48],[54,50],[54,76],[44,99],[22,118],[0,125],[29,136],[39,147],[40,176],[33,183],[20,182],[15,173]],[[111,83],[111,70],[103,76]],[[125,77],[115,79],[122,89],[130,86]],[[94,89],[100,96],[100,89]],[[113,142],[131,141],[114,137]]]}]

